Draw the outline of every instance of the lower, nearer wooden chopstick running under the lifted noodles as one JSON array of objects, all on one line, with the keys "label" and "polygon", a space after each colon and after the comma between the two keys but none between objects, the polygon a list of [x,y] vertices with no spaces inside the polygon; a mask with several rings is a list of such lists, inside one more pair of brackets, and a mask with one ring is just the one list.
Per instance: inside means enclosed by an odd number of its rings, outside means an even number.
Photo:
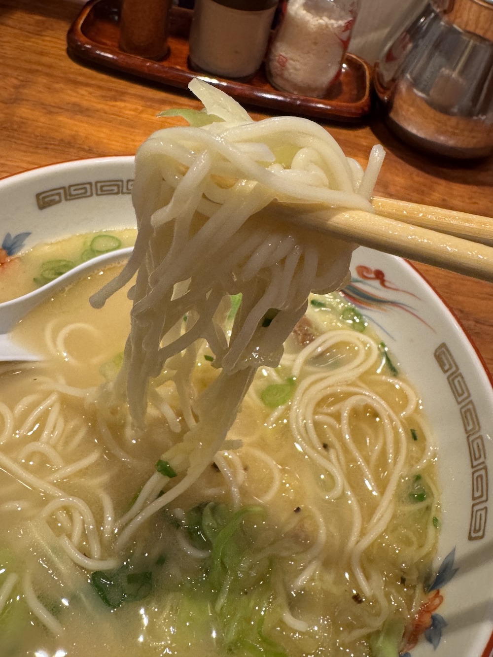
[{"label": "lower, nearer wooden chopstick running under the lifted noodles", "polygon": [[364,210],[309,210],[298,205],[299,214],[271,204],[270,215],[332,233],[378,251],[409,258],[459,274],[493,282],[493,248],[465,238],[439,233]]}]

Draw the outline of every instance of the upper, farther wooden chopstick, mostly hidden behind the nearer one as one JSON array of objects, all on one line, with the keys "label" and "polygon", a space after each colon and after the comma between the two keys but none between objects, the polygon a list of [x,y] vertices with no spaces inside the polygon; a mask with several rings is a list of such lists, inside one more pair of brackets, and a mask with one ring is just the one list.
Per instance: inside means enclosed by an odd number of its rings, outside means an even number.
[{"label": "upper, farther wooden chopstick, mostly hidden behind the nearer one", "polygon": [[490,217],[379,196],[374,196],[371,203],[382,217],[493,246],[493,219]]}]

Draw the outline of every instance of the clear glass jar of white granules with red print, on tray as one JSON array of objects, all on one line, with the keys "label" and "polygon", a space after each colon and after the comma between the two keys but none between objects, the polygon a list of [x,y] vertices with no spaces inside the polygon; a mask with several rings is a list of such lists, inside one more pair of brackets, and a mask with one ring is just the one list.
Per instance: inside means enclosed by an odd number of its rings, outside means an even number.
[{"label": "clear glass jar of white granules with red print, on tray", "polygon": [[339,78],[358,0],[288,0],[267,61],[277,89],[319,98]]}]

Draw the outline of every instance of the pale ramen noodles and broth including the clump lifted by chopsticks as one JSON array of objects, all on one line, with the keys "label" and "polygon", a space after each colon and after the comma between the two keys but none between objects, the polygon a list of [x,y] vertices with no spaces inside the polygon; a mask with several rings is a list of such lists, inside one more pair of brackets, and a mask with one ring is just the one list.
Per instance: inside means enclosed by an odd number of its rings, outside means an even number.
[{"label": "pale ramen noodles and broth including the clump lifted by chopsticks", "polygon": [[419,398],[339,295],[302,317],[353,246],[275,219],[294,192],[298,211],[367,207],[375,171],[329,166],[305,122],[296,148],[300,124],[246,122],[156,133],[128,267],[17,329],[49,359],[0,381],[5,657],[397,655],[425,599],[438,493]]}]

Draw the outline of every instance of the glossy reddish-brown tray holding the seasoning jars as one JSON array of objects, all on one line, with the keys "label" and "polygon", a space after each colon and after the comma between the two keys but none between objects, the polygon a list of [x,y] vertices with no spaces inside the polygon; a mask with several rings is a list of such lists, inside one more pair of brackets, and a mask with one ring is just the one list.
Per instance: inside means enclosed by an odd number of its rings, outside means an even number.
[{"label": "glossy reddish-brown tray holding the seasoning jars", "polygon": [[92,64],[186,89],[199,75],[229,93],[243,104],[254,104],[289,114],[354,122],[371,108],[371,68],[356,55],[346,55],[340,79],[324,98],[298,96],[274,89],[262,68],[248,81],[212,77],[194,71],[188,62],[188,35],[193,12],[173,7],[170,12],[170,53],[153,61],[124,53],[118,47],[120,37],[120,0],[91,0],[85,5],[67,34],[68,53]]}]

